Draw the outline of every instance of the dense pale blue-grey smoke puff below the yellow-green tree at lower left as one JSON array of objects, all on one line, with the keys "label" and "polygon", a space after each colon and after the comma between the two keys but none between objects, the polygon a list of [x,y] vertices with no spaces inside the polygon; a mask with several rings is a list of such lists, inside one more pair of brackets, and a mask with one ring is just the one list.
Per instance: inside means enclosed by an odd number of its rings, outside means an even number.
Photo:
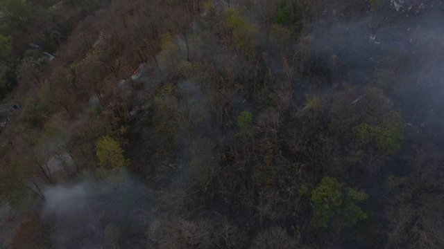
[{"label": "dense pale blue-grey smoke puff below the yellow-green tree at lower left", "polygon": [[[154,216],[152,194],[135,181],[59,185],[44,192],[42,216],[53,223],[54,248],[142,248]],[[131,241],[123,238],[133,238]],[[104,243],[105,242],[105,243]]]}]

